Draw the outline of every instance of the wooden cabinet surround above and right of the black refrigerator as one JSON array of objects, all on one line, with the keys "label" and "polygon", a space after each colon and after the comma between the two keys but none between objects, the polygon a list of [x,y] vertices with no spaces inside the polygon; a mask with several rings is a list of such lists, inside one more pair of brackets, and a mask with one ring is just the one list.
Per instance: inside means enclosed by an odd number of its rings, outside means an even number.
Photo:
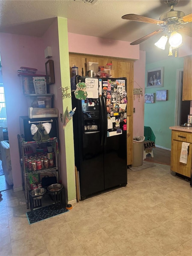
[{"label": "wooden cabinet surround above and right of the black refrigerator", "polygon": [[[127,165],[133,162],[133,83],[134,61],[129,59],[111,58],[107,56],[89,56],[84,54],[69,53],[70,72],[73,65],[78,67],[79,75],[82,68],[86,71],[87,62],[98,62],[99,66],[113,64],[114,77],[127,77]],[[71,73],[72,74],[72,73]]]}]

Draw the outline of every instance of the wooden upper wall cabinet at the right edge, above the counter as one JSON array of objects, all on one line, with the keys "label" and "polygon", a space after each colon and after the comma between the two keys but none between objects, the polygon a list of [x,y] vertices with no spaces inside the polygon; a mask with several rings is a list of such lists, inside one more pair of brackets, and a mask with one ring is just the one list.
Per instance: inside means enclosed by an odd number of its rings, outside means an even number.
[{"label": "wooden upper wall cabinet at the right edge, above the counter", "polygon": [[192,58],[184,57],[183,67],[183,101],[192,101]]}]

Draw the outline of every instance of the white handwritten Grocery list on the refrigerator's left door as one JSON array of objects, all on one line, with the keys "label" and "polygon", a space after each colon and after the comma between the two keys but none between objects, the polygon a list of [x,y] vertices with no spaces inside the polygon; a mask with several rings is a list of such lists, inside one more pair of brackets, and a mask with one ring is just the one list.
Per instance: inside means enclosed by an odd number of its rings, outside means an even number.
[{"label": "white handwritten Grocery list on the refrigerator's left door", "polygon": [[99,80],[98,78],[85,78],[85,85],[87,86],[86,92],[88,93],[87,98],[99,98]]}]

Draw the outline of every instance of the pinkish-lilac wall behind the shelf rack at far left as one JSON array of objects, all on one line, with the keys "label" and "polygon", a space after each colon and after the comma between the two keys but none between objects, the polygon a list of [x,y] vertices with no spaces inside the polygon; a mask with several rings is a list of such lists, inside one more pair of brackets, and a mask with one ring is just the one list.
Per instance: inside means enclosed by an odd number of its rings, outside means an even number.
[{"label": "pinkish-lilac wall behind the shelf rack at far left", "polygon": [[17,70],[21,66],[31,67],[45,74],[44,46],[41,38],[6,33],[0,37],[13,182],[14,188],[19,188],[22,184],[17,134],[20,134],[19,116],[27,116],[28,107]]}]

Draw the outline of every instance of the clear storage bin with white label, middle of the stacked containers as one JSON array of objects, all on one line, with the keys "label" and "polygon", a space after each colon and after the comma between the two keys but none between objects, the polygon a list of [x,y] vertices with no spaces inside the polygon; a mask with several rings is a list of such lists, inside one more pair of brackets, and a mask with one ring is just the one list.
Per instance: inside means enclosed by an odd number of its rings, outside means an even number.
[{"label": "clear storage bin with white label, middle of the stacked containers", "polygon": [[41,96],[29,94],[26,95],[28,107],[35,107],[35,108],[52,108],[53,107],[53,94],[42,94]]}]

